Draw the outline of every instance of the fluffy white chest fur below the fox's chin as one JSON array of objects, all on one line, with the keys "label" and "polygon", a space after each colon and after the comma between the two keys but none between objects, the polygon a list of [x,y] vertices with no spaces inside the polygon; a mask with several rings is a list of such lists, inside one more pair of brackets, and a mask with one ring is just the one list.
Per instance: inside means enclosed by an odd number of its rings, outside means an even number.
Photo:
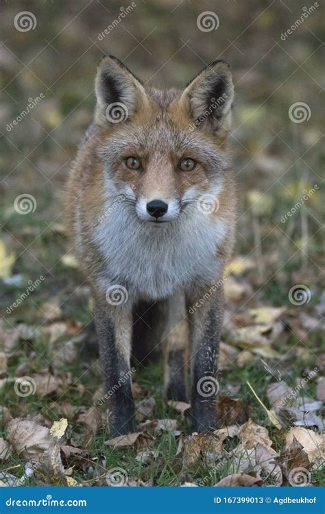
[{"label": "fluffy white chest fur below the fox's chin", "polygon": [[121,206],[93,232],[107,262],[101,288],[121,284],[129,295],[156,300],[208,284],[217,276],[217,248],[225,233],[224,223],[200,212],[156,227]]}]

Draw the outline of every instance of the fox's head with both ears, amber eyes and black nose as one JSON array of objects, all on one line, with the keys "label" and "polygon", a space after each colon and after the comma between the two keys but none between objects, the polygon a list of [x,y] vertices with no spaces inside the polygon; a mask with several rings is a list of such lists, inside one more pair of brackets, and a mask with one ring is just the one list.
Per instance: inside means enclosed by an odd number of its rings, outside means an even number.
[{"label": "fox's head with both ears, amber eyes and black nose", "polygon": [[105,56],[95,80],[95,124],[106,194],[143,222],[176,221],[213,208],[228,167],[234,96],[230,66],[215,61],[183,91],[155,90]]}]

